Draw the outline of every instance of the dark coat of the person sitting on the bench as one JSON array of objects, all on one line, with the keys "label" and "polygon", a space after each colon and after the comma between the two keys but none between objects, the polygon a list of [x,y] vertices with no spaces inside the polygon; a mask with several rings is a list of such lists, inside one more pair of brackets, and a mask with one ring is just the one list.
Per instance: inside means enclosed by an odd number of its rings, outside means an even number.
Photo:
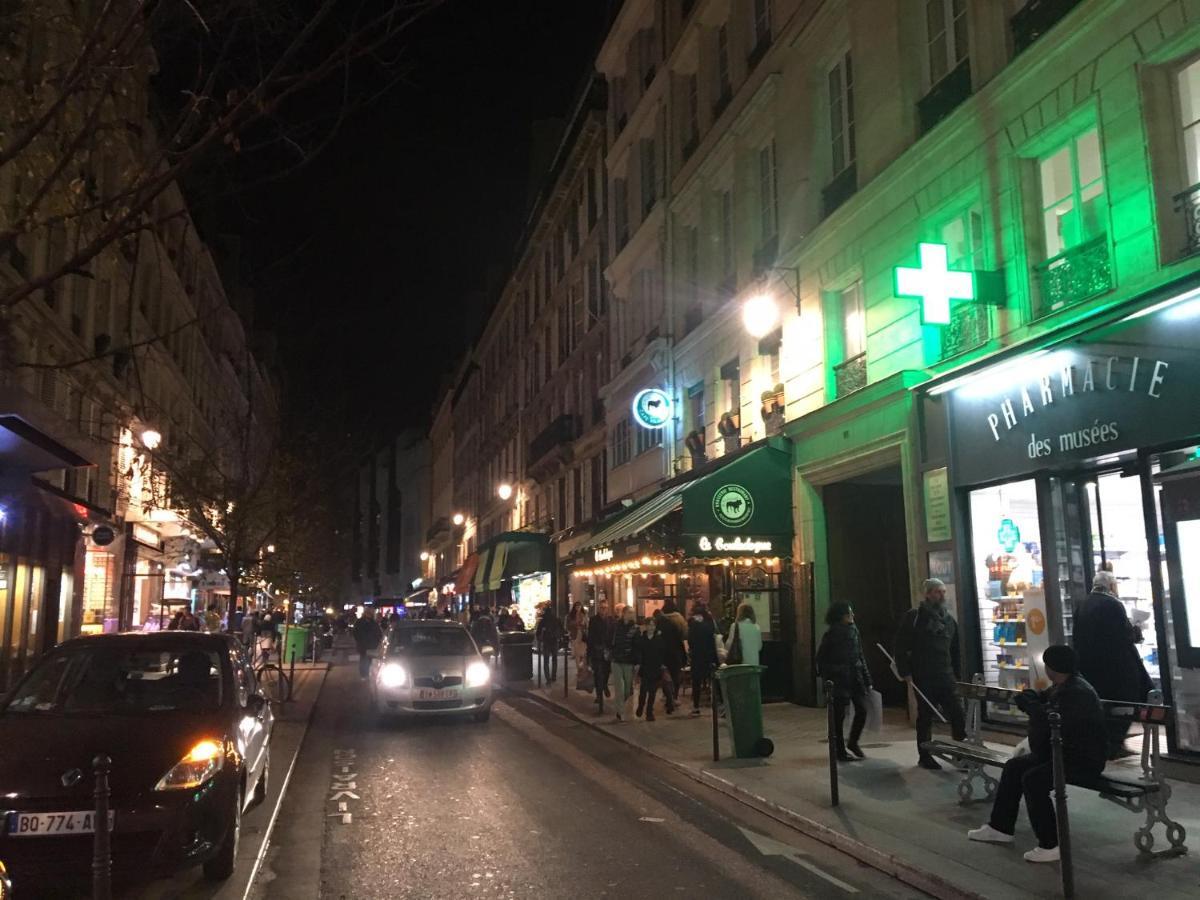
[{"label": "dark coat of the person sitting on the bench", "polygon": [[1025,691],[1018,706],[1030,716],[1030,752],[1039,760],[1051,758],[1050,710],[1062,716],[1062,757],[1074,776],[1094,776],[1108,758],[1108,732],[1104,708],[1096,689],[1081,676],[1040,691]]}]

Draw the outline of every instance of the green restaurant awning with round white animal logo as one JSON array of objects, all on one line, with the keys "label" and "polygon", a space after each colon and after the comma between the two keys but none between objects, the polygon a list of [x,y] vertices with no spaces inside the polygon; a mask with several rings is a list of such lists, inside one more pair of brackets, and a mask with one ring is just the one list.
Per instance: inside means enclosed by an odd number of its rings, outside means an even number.
[{"label": "green restaurant awning with round white animal logo", "polygon": [[[678,514],[678,515],[676,515]],[[656,546],[683,557],[788,556],[792,540],[791,452],[770,440],[670,485],[600,527],[578,553],[595,562],[654,526]],[[641,545],[628,552],[642,552]]]}]

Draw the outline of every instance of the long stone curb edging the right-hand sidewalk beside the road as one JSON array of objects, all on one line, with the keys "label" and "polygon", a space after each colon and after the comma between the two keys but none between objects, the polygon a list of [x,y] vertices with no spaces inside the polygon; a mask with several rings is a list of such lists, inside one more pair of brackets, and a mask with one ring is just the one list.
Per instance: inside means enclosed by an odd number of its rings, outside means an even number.
[{"label": "long stone curb edging the right-hand sidewalk beside the road", "polygon": [[559,712],[566,713],[572,719],[582,725],[587,725],[589,728],[600,732],[614,740],[619,740],[628,746],[636,748],[644,752],[650,754],[654,758],[665,762],[676,772],[679,772],[692,781],[704,785],[706,787],[720,791],[726,797],[738,800],[739,803],[750,806],[751,809],[768,815],[772,818],[782,822],[786,826],[794,828],[808,838],[821,841],[822,844],[830,846],[850,857],[853,857],[859,863],[869,865],[871,869],[883,872],[893,878],[896,878],[910,887],[917,888],[918,890],[929,894],[930,896],[938,898],[938,900],[986,900],[983,894],[977,894],[971,890],[964,890],[959,886],[947,881],[946,878],[936,875],[935,872],[922,869],[920,866],[913,865],[912,863],[901,859],[894,853],[886,853],[869,844],[864,844],[860,840],[851,838],[827,824],[817,822],[815,818],[809,818],[808,816],[800,815],[794,810],[790,810],[766,797],[760,797],[752,791],[748,791],[744,787],[734,785],[732,781],[726,781],[710,772],[700,772],[684,766],[683,763],[676,762],[666,756],[662,756],[658,751],[643,746],[641,744],[635,744],[620,734],[614,734],[607,728],[601,727],[599,722],[592,721],[583,715],[576,713],[569,706],[559,703],[548,697],[544,697],[539,694],[534,694],[528,688],[520,688],[515,685],[504,685],[506,691],[521,695],[528,700],[533,700],[542,706],[557,709]]}]

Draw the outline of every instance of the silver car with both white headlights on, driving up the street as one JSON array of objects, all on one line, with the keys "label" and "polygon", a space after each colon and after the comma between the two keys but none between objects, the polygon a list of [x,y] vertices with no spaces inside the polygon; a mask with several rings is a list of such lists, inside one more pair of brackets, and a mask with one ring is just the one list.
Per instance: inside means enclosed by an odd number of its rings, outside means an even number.
[{"label": "silver car with both white headlights on, driving up the street", "polygon": [[492,712],[492,666],[457,622],[398,619],[371,664],[371,691],[380,718]]}]

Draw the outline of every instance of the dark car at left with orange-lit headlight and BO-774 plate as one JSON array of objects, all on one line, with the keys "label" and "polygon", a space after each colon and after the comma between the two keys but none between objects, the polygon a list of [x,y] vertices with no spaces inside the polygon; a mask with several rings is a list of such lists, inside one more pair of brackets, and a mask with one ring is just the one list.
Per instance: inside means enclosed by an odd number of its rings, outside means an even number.
[{"label": "dark car at left with orange-lit headlight and BO-774 plate", "polygon": [[229,635],[60,644],[0,701],[0,859],[17,895],[89,876],[100,755],[115,880],[192,865],[228,877],[242,812],[266,794],[272,725]]}]

